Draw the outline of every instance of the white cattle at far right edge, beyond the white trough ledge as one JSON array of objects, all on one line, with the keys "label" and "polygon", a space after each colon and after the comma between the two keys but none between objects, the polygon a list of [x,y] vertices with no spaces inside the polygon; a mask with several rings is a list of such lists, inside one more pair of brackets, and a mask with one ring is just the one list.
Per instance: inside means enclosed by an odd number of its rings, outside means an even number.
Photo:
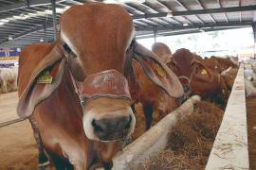
[{"label": "white cattle at far right edge, beyond the white trough ledge", "polygon": [[250,59],[245,62],[245,86],[247,97],[256,96],[256,60]]}]

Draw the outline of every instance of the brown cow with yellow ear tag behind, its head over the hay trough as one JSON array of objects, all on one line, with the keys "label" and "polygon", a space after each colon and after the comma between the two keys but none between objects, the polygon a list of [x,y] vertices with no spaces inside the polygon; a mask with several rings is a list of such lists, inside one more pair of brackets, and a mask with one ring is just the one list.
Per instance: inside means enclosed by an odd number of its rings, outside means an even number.
[{"label": "brown cow with yellow ear tag behind, its head over the hay trough", "polygon": [[190,50],[185,48],[177,50],[170,66],[183,86],[190,87],[191,94],[214,98],[216,94],[221,93],[224,99],[228,98],[228,89],[223,77],[212,73],[203,63],[194,59]]}]

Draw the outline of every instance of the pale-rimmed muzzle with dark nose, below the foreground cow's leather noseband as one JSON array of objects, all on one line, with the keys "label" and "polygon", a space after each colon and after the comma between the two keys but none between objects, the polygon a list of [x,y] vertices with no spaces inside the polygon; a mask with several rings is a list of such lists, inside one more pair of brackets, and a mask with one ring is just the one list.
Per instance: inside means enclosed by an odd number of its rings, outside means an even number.
[{"label": "pale-rimmed muzzle with dark nose, below the foreground cow's leather noseband", "polygon": [[133,133],[136,124],[133,110],[125,101],[111,100],[99,98],[86,104],[82,123],[87,138],[101,142],[120,141]]}]

